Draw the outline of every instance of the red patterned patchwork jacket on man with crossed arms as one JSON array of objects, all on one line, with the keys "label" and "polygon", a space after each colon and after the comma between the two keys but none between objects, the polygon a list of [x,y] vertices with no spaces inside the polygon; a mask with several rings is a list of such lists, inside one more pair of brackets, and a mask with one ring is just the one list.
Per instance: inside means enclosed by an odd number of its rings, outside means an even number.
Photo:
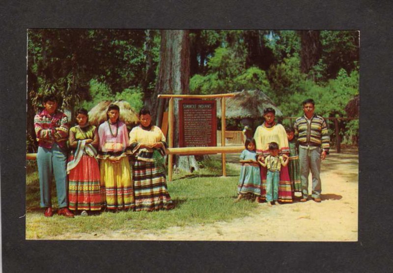
[{"label": "red patterned patchwork jacket on man with crossed arms", "polygon": [[44,109],[34,117],[34,130],[38,146],[51,149],[56,142],[60,148],[66,147],[69,124],[64,113],[56,111],[50,115]]}]

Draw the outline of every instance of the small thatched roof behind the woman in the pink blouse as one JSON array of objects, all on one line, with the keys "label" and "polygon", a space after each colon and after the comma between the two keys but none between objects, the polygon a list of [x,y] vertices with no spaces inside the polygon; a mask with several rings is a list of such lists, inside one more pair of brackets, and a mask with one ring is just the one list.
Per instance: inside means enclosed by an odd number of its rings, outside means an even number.
[{"label": "small thatched roof behind the woman in the pink blouse", "polygon": [[139,121],[139,115],[131,105],[125,100],[104,100],[94,106],[88,113],[89,122],[93,125],[100,125],[107,120],[107,110],[110,104],[116,104],[120,108],[120,121],[126,123],[128,127],[135,126]]}]

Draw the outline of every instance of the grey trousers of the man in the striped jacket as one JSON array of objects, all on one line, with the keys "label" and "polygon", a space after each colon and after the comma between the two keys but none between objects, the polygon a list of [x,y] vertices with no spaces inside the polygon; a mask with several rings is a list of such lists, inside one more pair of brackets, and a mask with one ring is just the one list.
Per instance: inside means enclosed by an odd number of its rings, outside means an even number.
[{"label": "grey trousers of the man in the striped jacket", "polygon": [[309,173],[312,175],[312,192],[311,197],[320,198],[322,186],[321,178],[321,152],[322,149],[317,147],[313,150],[303,149],[299,147],[299,165],[300,180],[302,181],[303,198],[309,196]]}]

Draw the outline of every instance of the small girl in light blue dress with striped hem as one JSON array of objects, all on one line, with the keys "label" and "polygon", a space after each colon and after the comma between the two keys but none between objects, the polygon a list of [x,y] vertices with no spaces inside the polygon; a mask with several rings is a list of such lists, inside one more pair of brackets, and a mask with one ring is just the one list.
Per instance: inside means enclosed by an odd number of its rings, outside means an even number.
[{"label": "small girl in light blue dress with striped hem", "polygon": [[255,196],[255,201],[259,203],[261,195],[261,177],[259,171],[259,164],[256,161],[255,140],[247,139],[244,146],[246,149],[240,154],[240,163],[242,168],[240,170],[239,184],[237,186],[238,202],[245,195]]}]

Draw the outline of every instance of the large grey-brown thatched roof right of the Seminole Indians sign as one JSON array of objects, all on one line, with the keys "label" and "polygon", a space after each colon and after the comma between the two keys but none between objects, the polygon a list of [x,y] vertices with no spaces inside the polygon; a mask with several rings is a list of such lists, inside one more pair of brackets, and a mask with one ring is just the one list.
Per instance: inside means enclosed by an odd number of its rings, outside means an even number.
[{"label": "large grey-brown thatched roof right of the Seminole Indians sign", "polygon": [[[276,116],[282,116],[281,110],[260,90],[233,92],[234,97],[225,98],[225,117],[227,119],[258,119],[263,117],[263,110],[271,107]],[[221,104],[217,103],[217,115],[221,117]]]}]

